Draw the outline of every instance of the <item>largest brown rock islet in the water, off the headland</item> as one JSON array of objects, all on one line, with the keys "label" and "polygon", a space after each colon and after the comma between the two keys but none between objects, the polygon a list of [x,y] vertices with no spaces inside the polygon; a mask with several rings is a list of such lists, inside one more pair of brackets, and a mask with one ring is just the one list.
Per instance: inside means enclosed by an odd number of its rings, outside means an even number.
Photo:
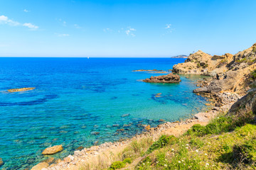
[{"label": "largest brown rock islet in the water, off the headland", "polygon": [[177,74],[167,74],[163,76],[158,77],[150,77],[149,79],[144,79],[144,82],[149,83],[178,83],[181,82],[181,77],[179,77]]}]

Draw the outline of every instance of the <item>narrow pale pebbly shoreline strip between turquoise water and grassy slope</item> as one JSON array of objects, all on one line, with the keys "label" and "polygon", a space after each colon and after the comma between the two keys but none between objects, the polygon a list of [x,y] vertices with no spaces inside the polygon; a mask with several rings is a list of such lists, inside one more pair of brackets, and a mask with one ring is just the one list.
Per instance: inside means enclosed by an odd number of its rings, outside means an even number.
[{"label": "narrow pale pebbly shoreline strip between turquoise water and grassy slope", "polygon": [[[198,84],[199,82],[197,82]],[[43,170],[79,170],[82,166],[89,164],[97,164],[100,162],[102,157],[107,157],[111,154],[118,154],[122,152],[123,149],[128,147],[132,141],[134,140],[142,140],[145,137],[152,137],[154,141],[158,140],[161,135],[174,135],[180,136],[183,135],[189,128],[191,128],[195,124],[207,125],[210,120],[215,118],[218,114],[228,111],[230,107],[237,101],[236,100],[227,101],[227,98],[233,96],[233,94],[227,92],[219,92],[214,94],[217,98],[210,98],[210,96],[205,96],[204,94],[197,94],[203,97],[209,98],[210,105],[221,104],[222,106],[212,107],[209,111],[199,112],[193,115],[192,118],[188,118],[186,120],[176,121],[176,122],[166,122],[158,125],[156,128],[150,128],[150,126],[145,127],[146,132],[142,132],[139,135],[134,135],[134,137],[130,137],[129,139],[125,139],[118,142],[105,142],[98,146],[92,146],[90,148],[84,148],[82,150],[76,150],[72,155],[68,155],[63,159],[55,160],[55,162],[40,162],[33,166],[32,170],[43,169]],[[213,95],[213,96],[214,96]],[[235,96],[238,96],[235,94]],[[225,98],[226,97],[226,98]],[[231,97],[233,98],[233,97]],[[226,100],[226,102],[224,102]],[[219,103],[222,102],[222,103]],[[207,105],[206,105],[207,106]],[[116,161],[114,158],[105,158],[109,160],[107,164],[111,165],[113,161]],[[110,161],[110,159],[112,159]],[[48,160],[48,159],[46,159]],[[54,160],[52,160],[54,161]]]}]

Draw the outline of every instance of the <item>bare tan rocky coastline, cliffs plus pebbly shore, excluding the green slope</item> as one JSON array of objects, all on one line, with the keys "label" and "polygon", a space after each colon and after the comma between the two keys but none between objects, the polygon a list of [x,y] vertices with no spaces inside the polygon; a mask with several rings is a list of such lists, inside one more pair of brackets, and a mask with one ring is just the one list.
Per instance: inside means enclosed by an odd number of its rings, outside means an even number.
[{"label": "bare tan rocky coastline, cliffs plus pebbly shore, excluding the green slope", "polygon": [[[256,43],[247,50],[236,55],[211,56],[201,50],[188,56],[186,62],[174,66],[176,74],[201,74],[210,76],[203,81],[197,81],[198,89],[193,92],[209,98],[210,110],[197,113],[192,118],[174,123],[163,123],[156,128],[150,125],[145,131],[131,139],[119,142],[106,142],[99,146],[92,146],[77,150],[73,155],[55,162],[41,162],[33,166],[33,170],[80,169],[90,164],[97,164],[102,158],[118,154],[134,140],[143,137],[152,137],[157,140],[161,135],[182,135],[195,124],[207,125],[208,122],[220,113],[236,111],[243,104],[247,104],[256,111]],[[106,159],[105,164],[112,164],[114,157]]]}]

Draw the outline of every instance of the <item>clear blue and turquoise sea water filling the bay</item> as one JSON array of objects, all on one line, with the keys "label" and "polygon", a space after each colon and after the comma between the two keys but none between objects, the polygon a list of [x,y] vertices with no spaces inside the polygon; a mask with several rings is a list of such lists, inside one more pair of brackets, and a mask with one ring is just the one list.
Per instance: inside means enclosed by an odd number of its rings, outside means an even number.
[{"label": "clear blue and turquoise sea water filling the bay", "polygon": [[[63,145],[51,156],[63,158],[96,141],[132,137],[144,130],[139,123],[156,127],[159,119],[176,121],[206,109],[206,99],[192,93],[202,77],[150,84],[140,80],[161,74],[132,72],[168,70],[179,62],[184,59],[0,58],[1,168],[31,168],[48,158],[41,154],[46,147]],[[23,87],[36,89],[6,91]]]}]

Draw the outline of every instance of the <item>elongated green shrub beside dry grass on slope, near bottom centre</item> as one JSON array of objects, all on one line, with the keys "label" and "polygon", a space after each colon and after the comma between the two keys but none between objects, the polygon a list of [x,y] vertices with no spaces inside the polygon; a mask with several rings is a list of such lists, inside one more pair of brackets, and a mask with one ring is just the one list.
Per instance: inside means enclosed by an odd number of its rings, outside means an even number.
[{"label": "elongated green shrub beside dry grass on slope, near bottom centre", "polygon": [[146,154],[150,154],[151,152],[154,151],[154,149],[164,147],[169,143],[174,143],[175,141],[176,141],[176,137],[174,137],[174,135],[171,135],[169,137],[167,137],[166,135],[162,135],[159,138],[159,140],[154,142],[153,145],[151,145],[151,147],[149,147],[149,149],[146,151]]}]

